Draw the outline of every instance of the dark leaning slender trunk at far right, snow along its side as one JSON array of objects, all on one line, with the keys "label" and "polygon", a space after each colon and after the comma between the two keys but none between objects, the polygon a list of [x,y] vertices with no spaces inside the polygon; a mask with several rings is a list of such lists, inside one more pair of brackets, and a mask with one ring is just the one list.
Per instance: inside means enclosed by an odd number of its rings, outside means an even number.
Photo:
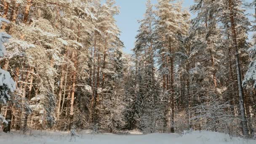
[{"label": "dark leaning slender trunk at far right, snow along its side", "polygon": [[245,137],[249,136],[248,127],[247,127],[247,120],[245,116],[245,106],[244,106],[244,96],[243,96],[243,87],[242,87],[242,76],[240,70],[240,61],[239,61],[239,52],[237,46],[237,34],[235,29],[235,20],[234,20],[234,11],[233,11],[233,3],[232,0],[229,0],[229,11],[230,11],[230,23],[232,29],[232,38],[233,38],[233,46],[236,51],[235,59],[236,59],[236,68],[237,68],[237,85],[239,90],[239,103],[240,103],[240,113],[242,118],[242,128],[243,128],[243,135]]}]

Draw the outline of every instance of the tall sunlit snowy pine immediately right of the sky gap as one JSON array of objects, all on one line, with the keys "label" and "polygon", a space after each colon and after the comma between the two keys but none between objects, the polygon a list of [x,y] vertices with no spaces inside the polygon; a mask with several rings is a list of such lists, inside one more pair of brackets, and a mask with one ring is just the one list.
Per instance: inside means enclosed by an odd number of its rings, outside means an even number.
[{"label": "tall sunlit snowy pine immediately right of the sky gap", "polygon": [[[168,127],[174,133],[175,115],[175,63],[182,53],[181,40],[188,32],[189,13],[174,0],[158,0],[155,35],[159,52],[160,72],[163,77],[163,93],[167,96],[166,115]],[[182,54],[181,54],[182,55]]]}]

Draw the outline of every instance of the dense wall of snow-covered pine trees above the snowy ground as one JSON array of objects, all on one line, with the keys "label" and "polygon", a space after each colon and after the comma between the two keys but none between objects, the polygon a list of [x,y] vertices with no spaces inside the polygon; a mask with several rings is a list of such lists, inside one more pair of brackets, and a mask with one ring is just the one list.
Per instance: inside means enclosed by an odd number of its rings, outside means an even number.
[{"label": "dense wall of snow-covered pine trees above the snowy ground", "polygon": [[180,2],[148,0],[128,55],[115,0],[1,0],[3,131],[253,136],[256,27],[245,10],[256,1],[194,1],[190,19]]}]

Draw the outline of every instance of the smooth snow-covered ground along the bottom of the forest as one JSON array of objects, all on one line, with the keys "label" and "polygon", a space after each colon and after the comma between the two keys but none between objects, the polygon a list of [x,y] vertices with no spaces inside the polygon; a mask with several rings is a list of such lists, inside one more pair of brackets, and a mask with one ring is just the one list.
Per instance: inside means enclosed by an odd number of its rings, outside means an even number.
[{"label": "smooth snow-covered ground along the bottom of the forest", "polygon": [[81,131],[71,140],[67,132],[32,131],[24,135],[18,131],[12,133],[0,132],[0,144],[256,144],[255,140],[246,140],[223,133],[209,131],[194,131],[185,135],[170,133],[115,135],[103,133],[98,135]]}]

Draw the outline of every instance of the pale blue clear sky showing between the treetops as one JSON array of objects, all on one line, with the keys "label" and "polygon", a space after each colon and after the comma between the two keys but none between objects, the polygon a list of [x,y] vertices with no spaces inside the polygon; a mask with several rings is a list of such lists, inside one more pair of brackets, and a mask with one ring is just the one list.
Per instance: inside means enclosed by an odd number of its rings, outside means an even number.
[{"label": "pale blue clear sky showing between the treetops", "polygon": [[[143,18],[146,11],[147,0],[116,0],[116,5],[120,6],[120,14],[115,17],[117,26],[122,31],[120,39],[124,42],[125,53],[132,53],[134,48],[135,36],[139,29],[138,20]],[[157,3],[157,0],[152,0],[152,3]],[[193,0],[184,0],[184,8],[189,9],[193,4]]]}]

